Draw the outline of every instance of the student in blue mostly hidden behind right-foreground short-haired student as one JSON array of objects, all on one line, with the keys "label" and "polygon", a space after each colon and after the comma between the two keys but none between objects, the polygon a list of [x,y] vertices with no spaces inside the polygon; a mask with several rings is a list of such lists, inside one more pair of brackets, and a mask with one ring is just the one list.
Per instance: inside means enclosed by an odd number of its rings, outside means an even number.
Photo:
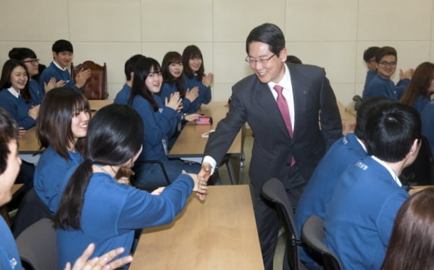
[{"label": "student in blue mostly hidden behind right-foreground short-haired student", "polygon": [[[295,227],[297,227],[298,235],[301,235],[302,225],[311,215],[324,218],[341,173],[358,159],[367,155],[363,141],[365,141],[365,125],[369,113],[379,105],[391,102],[395,101],[385,97],[373,97],[363,101],[357,112],[354,133],[339,138],[325,153],[304,189],[297,211],[295,211]],[[313,257],[309,249],[302,246],[300,260],[306,264],[307,268],[310,268],[310,264],[316,264]]]}]

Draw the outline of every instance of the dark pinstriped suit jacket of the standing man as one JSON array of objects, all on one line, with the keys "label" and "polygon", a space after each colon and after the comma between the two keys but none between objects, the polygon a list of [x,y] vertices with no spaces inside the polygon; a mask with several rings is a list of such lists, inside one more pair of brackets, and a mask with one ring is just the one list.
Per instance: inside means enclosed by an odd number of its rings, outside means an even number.
[{"label": "dark pinstriped suit jacket of the standing man", "polygon": [[[295,128],[290,138],[276,101],[255,74],[232,87],[230,111],[211,133],[204,155],[220,164],[239,129],[248,122],[254,142],[249,176],[260,189],[269,178],[279,178],[286,188],[306,185],[325,150],[342,136],[335,94],[318,66],[287,64],[295,106]],[[321,127],[319,127],[319,119]],[[290,161],[295,157],[304,183],[288,183]]]}]

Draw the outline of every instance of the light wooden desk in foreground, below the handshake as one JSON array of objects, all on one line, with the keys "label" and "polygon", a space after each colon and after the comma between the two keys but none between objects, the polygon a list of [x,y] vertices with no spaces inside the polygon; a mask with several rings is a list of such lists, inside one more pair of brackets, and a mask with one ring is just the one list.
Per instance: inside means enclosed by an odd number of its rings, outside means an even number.
[{"label": "light wooden desk in foreground, below the handshake", "polygon": [[192,194],[171,224],[144,229],[130,270],[264,269],[248,185],[208,193],[203,203]]}]

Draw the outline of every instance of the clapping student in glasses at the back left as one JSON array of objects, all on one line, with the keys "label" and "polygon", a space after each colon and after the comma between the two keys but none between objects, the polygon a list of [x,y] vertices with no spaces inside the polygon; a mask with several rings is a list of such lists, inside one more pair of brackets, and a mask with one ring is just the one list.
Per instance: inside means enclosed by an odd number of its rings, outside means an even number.
[{"label": "clapping student in glasses at the back left", "polygon": [[44,83],[44,87],[41,87],[39,83],[33,79],[33,77],[39,73],[39,59],[36,57],[33,50],[29,48],[13,48],[9,51],[9,58],[23,62],[27,67],[27,72],[29,72],[29,90],[33,105],[41,104],[45,92],[52,90],[54,87],[61,87],[63,85],[62,81],[56,83],[56,79],[51,78],[48,83]]}]

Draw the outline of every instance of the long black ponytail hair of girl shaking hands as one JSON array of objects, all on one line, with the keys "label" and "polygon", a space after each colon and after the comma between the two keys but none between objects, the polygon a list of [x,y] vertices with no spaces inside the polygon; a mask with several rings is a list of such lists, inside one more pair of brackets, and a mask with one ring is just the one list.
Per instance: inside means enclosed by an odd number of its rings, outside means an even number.
[{"label": "long black ponytail hair of girl shaking hands", "polygon": [[132,161],[141,148],[143,130],[139,113],[127,105],[105,106],[94,115],[87,129],[85,161],[65,187],[54,216],[56,228],[81,228],[81,210],[93,173],[92,164],[119,166]]}]

